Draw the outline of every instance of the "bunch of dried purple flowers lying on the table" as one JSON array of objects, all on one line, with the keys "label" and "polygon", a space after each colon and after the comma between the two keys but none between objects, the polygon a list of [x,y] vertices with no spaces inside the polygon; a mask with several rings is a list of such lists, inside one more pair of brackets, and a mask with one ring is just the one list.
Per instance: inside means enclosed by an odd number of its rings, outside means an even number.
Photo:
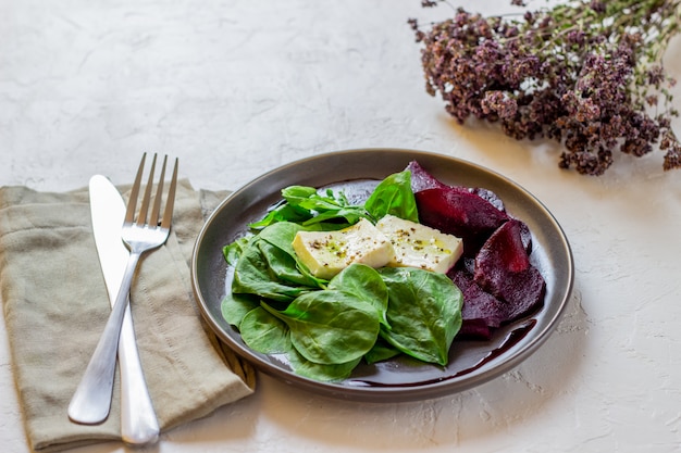
[{"label": "bunch of dried purple flowers lying on the table", "polygon": [[409,23],[423,45],[426,90],[439,92],[457,121],[472,115],[517,139],[556,139],[565,147],[560,167],[602,175],[617,149],[641,156],[656,147],[665,169],[681,167],[670,125],[674,80],[661,66],[680,4],[571,0],[522,18],[457,9],[429,30]]}]

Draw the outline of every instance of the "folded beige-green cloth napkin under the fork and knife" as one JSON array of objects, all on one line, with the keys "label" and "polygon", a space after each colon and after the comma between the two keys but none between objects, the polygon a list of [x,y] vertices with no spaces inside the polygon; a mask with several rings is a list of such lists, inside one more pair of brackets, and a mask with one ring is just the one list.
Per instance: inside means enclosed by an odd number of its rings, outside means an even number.
[{"label": "folded beige-green cloth napkin under the fork and knife", "polygon": [[[191,291],[194,241],[220,199],[186,180],[179,184],[169,240],[143,256],[131,290],[139,354],[162,431],[255,389],[255,372],[209,331]],[[111,311],[87,189],[0,188],[0,285],[30,446],[48,452],[120,439],[117,377],[106,423],[83,426],[66,415]]]}]

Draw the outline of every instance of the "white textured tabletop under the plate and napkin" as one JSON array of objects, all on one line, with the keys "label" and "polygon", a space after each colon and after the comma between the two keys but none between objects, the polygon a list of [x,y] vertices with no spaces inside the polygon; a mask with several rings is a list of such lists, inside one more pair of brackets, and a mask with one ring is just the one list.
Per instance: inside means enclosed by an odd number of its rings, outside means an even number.
[{"label": "white textured tabletop under the plate and napkin", "polygon": [[[406,24],[449,10],[419,3],[0,0],[0,185],[67,190],[95,173],[128,183],[141,151],[151,150],[179,156],[197,188],[234,189],[320,152],[413,148],[468,159],[524,186],[574,252],[574,293],[557,331],[488,383],[435,401],[372,405],[261,376],[253,397],[164,433],[148,451],[681,448],[681,172],[663,173],[660,153],[618,155],[607,176],[587,178],[559,171],[554,144],[458,126],[425,93]],[[510,9],[495,0],[474,8]],[[677,76],[680,49],[674,42],[667,53]],[[0,445],[25,452],[0,326]]]}]

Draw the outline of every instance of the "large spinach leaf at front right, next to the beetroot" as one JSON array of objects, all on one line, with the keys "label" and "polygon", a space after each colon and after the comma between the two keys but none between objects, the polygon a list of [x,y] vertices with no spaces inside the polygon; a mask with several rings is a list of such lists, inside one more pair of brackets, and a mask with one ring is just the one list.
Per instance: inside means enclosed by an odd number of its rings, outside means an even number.
[{"label": "large spinach leaf at front right, next to the beetroot", "polygon": [[461,291],[444,274],[413,267],[379,270],[388,290],[391,329],[381,336],[404,353],[446,365],[461,327]]}]

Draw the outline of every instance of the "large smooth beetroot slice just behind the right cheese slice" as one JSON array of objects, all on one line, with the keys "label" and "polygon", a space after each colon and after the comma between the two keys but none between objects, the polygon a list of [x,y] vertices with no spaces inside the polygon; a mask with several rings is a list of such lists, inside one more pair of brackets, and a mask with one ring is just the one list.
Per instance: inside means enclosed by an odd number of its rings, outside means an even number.
[{"label": "large smooth beetroot slice just behind the right cheese slice", "polygon": [[463,255],[473,256],[508,215],[479,196],[450,187],[414,194],[422,224],[463,240]]}]

